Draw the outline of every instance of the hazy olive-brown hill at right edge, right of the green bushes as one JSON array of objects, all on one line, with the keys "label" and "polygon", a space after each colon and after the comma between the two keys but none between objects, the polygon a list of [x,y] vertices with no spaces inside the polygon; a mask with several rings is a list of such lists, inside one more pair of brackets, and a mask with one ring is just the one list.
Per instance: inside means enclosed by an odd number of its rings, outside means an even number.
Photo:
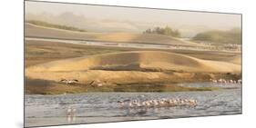
[{"label": "hazy olive-brown hill at right edge, right of the green bushes", "polygon": [[234,28],[229,31],[207,31],[196,34],[192,40],[220,44],[241,44],[241,29]]}]

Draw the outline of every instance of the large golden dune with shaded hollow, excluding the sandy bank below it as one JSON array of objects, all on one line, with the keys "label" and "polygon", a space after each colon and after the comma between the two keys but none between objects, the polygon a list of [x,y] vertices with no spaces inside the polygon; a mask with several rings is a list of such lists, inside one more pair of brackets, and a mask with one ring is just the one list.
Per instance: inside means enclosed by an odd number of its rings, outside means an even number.
[{"label": "large golden dune with shaded hollow, excluding the sandy bank below it", "polygon": [[74,72],[99,70],[121,71],[176,71],[223,73],[240,72],[241,65],[219,61],[206,61],[183,54],[159,51],[122,52],[78,57],[27,68],[29,72]]}]

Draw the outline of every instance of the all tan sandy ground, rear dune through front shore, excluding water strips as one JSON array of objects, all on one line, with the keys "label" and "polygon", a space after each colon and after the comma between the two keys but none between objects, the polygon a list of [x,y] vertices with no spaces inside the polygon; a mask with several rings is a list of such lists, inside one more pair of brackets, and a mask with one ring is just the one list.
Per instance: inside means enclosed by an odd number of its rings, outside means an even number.
[{"label": "all tan sandy ground, rear dune through front shore, excluding water strips", "polygon": [[[72,32],[26,24],[26,36],[118,43],[204,46],[157,34]],[[26,40],[26,93],[197,91],[175,86],[210,79],[241,79],[241,53],[68,44]],[[67,85],[62,79],[78,80]],[[97,82],[101,87],[91,87]]]}]

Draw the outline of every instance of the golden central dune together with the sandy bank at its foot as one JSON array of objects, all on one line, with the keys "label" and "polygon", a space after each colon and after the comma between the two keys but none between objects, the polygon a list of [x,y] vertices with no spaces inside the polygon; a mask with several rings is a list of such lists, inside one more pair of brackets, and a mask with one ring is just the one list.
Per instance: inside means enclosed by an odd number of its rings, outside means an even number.
[{"label": "golden central dune together with the sandy bank at its foot", "polygon": [[[104,81],[106,84],[150,83],[186,80],[214,73],[240,73],[239,64],[202,60],[188,55],[159,51],[135,51],[77,57],[26,68],[26,76],[59,82],[77,79],[80,84]],[[197,75],[196,75],[197,73]]]}]

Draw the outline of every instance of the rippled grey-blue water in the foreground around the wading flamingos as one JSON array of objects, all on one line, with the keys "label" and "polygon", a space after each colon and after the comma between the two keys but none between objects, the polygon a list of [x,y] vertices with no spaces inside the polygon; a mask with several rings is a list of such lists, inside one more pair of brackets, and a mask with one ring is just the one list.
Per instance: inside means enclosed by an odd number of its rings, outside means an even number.
[{"label": "rippled grey-blue water in the foreground around the wading flamingos", "polygon": [[[143,95],[143,96],[141,96]],[[120,108],[118,100],[196,99],[196,107]],[[218,91],[175,93],[87,93],[26,95],[26,126],[104,123],[241,113],[241,87]],[[76,108],[67,117],[67,108]]]}]

